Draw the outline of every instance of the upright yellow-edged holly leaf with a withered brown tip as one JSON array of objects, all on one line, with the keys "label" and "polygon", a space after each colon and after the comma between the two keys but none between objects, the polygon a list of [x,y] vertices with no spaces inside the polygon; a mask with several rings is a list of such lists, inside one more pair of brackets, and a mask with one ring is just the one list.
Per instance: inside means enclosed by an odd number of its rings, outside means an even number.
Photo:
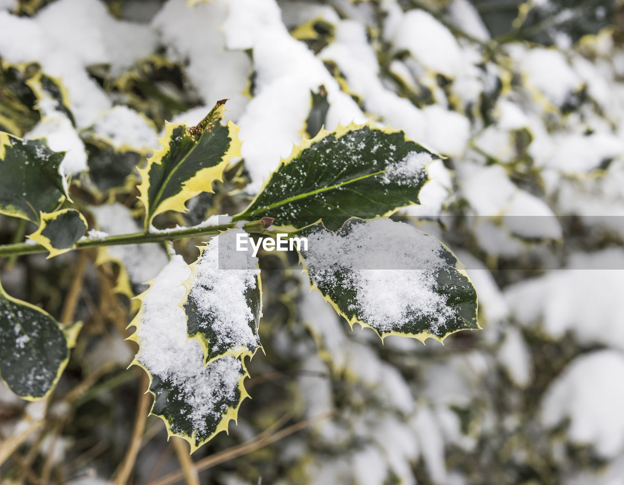
[{"label": "upright yellow-edged holly leaf with a withered brown tip", "polygon": [[238,127],[222,125],[225,99],[197,125],[167,124],[162,149],[139,170],[140,200],[145,206],[145,227],[166,210],[185,212],[185,202],[201,192],[213,192],[232,157],[240,156]]}]

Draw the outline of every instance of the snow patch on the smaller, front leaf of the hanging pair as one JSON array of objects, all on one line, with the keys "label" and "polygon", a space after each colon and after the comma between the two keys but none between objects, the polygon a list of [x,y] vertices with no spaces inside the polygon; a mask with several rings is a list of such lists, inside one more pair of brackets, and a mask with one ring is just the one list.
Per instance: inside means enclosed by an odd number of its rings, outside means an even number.
[{"label": "snow patch on the smaller, front leaf of the hanging pair", "polygon": [[246,300],[247,290],[256,288],[258,258],[248,251],[236,251],[240,229],[228,230],[212,238],[193,268],[189,300],[203,317],[210,317],[219,348],[256,348],[260,345],[249,323],[254,315]]}]

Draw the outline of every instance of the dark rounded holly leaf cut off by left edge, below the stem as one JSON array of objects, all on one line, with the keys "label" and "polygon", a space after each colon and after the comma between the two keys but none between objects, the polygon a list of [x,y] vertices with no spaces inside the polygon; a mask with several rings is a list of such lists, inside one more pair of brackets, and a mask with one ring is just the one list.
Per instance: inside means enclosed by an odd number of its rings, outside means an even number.
[{"label": "dark rounded holly leaf cut off by left edge, below the stem", "polygon": [[57,321],[41,308],[11,298],[0,285],[0,373],[9,389],[28,401],[43,398],[68,357]]}]

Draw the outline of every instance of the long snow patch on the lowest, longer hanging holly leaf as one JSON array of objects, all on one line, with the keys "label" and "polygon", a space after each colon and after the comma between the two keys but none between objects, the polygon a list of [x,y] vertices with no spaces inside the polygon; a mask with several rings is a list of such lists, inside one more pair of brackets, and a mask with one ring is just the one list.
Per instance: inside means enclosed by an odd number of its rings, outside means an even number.
[{"label": "long snow patch on the lowest, longer hanging holly leaf", "polygon": [[235,398],[243,375],[240,361],[225,356],[203,366],[203,350],[187,338],[187,320],[178,306],[185,295],[182,283],[190,269],[182,256],[175,255],[163,268],[143,298],[141,322],[137,328],[137,360],[180,390],[190,405],[193,429],[206,431],[207,418],[220,419],[219,404]]}]

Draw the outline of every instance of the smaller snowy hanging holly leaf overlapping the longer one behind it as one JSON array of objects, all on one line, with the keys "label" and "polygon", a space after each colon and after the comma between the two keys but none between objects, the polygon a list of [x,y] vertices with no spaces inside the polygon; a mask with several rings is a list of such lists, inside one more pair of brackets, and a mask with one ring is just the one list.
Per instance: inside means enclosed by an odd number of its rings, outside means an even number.
[{"label": "smaller snowy hanging holly leaf overlapping the longer one behind it", "polygon": [[260,269],[250,251],[236,251],[241,236],[246,232],[230,229],[213,237],[185,282],[188,336],[202,345],[206,363],[223,355],[253,356],[260,346]]}]

